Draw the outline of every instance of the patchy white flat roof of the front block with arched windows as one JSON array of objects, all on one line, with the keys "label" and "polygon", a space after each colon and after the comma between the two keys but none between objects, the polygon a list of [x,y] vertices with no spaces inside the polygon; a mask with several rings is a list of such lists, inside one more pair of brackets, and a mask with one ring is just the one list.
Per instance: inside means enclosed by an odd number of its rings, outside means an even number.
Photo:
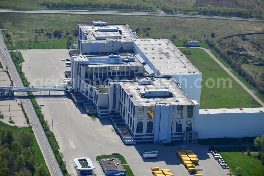
[{"label": "patchy white flat roof of the front block with arched windows", "polygon": [[[133,97],[130,99],[135,106],[154,106],[157,103],[171,103],[172,105],[194,105],[194,103],[183,90],[175,83],[172,78],[155,78],[151,85],[139,85],[136,81],[132,82],[110,82],[110,84],[120,84],[126,93],[131,93]],[[167,86],[168,89],[164,89]],[[150,89],[163,89],[172,91],[172,96],[154,96],[154,97],[142,97],[140,92]],[[147,101],[149,103],[145,103]],[[177,101],[176,101],[177,100]]]}]

